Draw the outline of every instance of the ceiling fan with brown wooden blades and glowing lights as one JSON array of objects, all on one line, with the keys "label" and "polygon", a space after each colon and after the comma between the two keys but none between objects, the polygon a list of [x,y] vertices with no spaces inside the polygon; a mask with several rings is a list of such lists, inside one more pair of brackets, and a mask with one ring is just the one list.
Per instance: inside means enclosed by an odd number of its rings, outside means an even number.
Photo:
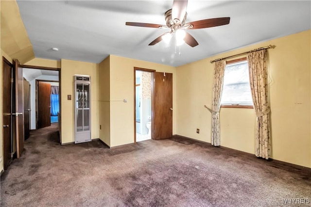
[{"label": "ceiling fan with brown wooden blades and glowing lights", "polygon": [[199,43],[185,30],[195,30],[208,27],[217,27],[221,25],[229,24],[230,17],[202,19],[193,22],[186,22],[187,18],[187,5],[188,0],[173,0],[172,9],[165,12],[166,25],[139,23],[139,22],[125,22],[125,25],[136,27],[151,27],[151,28],[169,28],[170,32],[165,32],[161,36],[157,37],[149,45],[155,45],[161,40],[169,42],[172,35],[175,34],[176,45],[181,45],[186,42],[191,47],[199,45]]}]

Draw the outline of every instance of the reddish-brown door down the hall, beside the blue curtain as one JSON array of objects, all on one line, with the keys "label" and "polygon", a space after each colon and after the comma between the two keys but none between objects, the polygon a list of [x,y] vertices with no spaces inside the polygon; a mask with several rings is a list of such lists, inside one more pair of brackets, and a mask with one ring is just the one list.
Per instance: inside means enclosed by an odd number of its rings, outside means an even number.
[{"label": "reddish-brown door down the hall, beside the blue curtain", "polygon": [[51,126],[51,84],[38,81],[38,122],[37,128]]}]

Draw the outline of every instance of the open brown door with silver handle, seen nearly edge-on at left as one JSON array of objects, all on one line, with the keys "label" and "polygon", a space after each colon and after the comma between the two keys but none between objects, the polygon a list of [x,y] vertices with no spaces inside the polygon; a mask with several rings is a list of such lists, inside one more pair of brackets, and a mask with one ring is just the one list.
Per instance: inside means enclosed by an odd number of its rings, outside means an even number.
[{"label": "open brown door with silver handle, seen nearly edge-on at left", "polygon": [[16,96],[16,151],[17,158],[24,150],[24,103],[23,103],[23,68],[15,61],[15,96]]}]

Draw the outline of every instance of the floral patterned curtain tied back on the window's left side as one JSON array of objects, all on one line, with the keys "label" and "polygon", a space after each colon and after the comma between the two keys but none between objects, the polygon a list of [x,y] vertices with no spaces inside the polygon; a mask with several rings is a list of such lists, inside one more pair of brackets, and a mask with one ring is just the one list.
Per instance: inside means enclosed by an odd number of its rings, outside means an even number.
[{"label": "floral patterned curtain tied back on the window's left side", "polygon": [[225,74],[225,61],[216,61],[214,68],[214,81],[213,81],[213,97],[212,97],[212,135],[211,144],[214,146],[220,146],[220,99],[223,92]]}]

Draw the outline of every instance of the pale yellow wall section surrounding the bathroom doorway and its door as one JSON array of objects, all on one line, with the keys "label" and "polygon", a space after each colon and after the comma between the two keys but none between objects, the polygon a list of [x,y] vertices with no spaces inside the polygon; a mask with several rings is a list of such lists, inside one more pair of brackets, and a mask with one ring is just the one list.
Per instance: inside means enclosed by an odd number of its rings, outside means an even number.
[{"label": "pale yellow wall section surrounding the bathroom doorway and its door", "polygon": [[[173,73],[173,108],[176,108],[175,67],[110,55],[110,146],[134,142],[134,67]],[[175,133],[176,113],[173,111]]]}]

